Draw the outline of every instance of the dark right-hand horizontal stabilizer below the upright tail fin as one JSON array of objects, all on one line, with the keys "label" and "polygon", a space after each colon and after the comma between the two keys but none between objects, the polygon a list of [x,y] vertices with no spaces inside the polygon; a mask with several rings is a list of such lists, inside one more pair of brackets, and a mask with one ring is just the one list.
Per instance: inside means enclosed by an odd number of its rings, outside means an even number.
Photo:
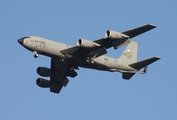
[{"label": "dark right-hand horizontal stabilizer below the upright tail fin", "polygon": [[149,58],[149,59],[146,59],[146,60],[142,60],[142,61],[130,64],[129,66],[136,69],[136,70],[140,70],[141,68],[146,67],[149,64],[151,64],[151,63],[153,63],[153,62],[155,62],[159,59],[160,58],[158,58],[158,57],[152,57],[152,58]]}]

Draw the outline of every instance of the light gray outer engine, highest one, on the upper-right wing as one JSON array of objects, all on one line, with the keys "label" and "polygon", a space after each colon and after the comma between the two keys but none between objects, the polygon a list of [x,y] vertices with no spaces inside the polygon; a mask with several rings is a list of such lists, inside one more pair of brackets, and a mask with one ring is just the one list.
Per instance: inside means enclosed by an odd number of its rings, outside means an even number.
[{"label": "light gray outer engine, highest one, on the upper-right wing", "polygon": [[124,35],[120,32],[116,32],[116,31],[113,31],[113,30],[107,30],[106,33],[105,33],[105,36],[107,38],[112,38],[112,39],[128,38],[127,35]]}]

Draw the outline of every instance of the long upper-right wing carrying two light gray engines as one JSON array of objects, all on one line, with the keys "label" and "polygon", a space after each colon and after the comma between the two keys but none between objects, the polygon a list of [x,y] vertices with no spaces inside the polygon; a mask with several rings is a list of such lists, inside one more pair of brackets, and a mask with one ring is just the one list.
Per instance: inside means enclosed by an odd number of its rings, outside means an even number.
[{"label": "long upper-right wing carrying two light gray engines", "polygon": [[[130,38],[133,38],[137,35],[140,35],[144,32],[147,32],[151,29],[155,28],[155,26],[147,24],[135,29],[131,29],[122,33],[108,30],[106,32],[106,37],[101,38],[94,41],[85,41],[85,45],[87,47],[75,46],[70,47],[66,50],[60,51],[64,55],[72,55],[78,58],[89,58],[91,60],[104,55],[107,53],[106,49],[110,47],[114,47],[114,49],[118,49],[126,44],[130,43]],[[80,39],[80,43],[84,43],[84,40]],[[88,45],[92,45],[93,47],[88,47]]]}]

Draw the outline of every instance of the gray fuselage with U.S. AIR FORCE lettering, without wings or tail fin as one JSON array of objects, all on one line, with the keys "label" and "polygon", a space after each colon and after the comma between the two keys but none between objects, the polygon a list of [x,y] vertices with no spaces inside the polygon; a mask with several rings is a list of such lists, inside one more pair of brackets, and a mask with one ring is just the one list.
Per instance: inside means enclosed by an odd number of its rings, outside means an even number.
[{"label": "gray fuselage with U.S. AIR FORCE lettering, without wings or tail fin", "polygon": [[[64,55],[60,51],[68,49],[72,46],[51,41],[45,38],[30,36],[23,39],[23,46],[32,52],[38,52],[39,54],[48,57],[58,57],[68,64],[74,66],[91,68],[110,72],[119,71],[135,71],[135,69],[129,67],[127,64],[119,63],[118,59],[114,59],[108,56],[100,56],[93,60],[93,63],[86,64],[83,58],[77,58],[73,55]],[[81,51],[82,52],[82,51]]]}]

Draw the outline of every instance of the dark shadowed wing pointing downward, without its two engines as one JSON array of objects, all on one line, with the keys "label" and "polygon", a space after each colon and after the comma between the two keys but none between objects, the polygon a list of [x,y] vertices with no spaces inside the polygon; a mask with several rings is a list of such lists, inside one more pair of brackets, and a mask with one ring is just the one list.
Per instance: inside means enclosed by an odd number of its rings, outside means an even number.
[{"label": "dark shadowed wing pointing downward, without its two engines", "polygon": [[51,69],[55,71],[53,76],[50,77],[50,91],[59,93],[63,86],[66,87],[69,80],[67,76],[75,77],[77,73],[74,68],[57,58],[51,58]]}]

